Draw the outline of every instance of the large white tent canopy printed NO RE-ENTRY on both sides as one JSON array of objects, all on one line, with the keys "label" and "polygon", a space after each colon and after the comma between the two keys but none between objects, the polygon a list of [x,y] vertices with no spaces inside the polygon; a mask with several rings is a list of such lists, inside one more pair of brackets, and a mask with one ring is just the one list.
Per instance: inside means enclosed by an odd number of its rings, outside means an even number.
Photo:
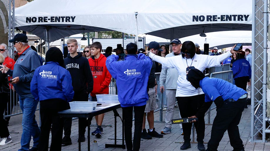
[{"label": "large white tent canopy printed NO RE-ENTRY on both sides", "polygon": [[251,0],[35,0],[15,9],[14,22],[49,41],[108,30],[173,39],[203,30],[251,30],[251,6]]}]

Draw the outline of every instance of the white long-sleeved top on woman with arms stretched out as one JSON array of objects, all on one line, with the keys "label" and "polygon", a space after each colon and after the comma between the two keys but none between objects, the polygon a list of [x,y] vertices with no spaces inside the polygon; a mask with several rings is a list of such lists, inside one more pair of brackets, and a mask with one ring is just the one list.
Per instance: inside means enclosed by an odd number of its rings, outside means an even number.
[{"label": "white long-sleeved top on woman with arms stretched out", "polygon": [[[179,76],[177,79],[176,97],[198,95],[198,89],[195,89],[195,87],[193,87],[191,83],[186,80],[186,70],[188,67],[189,69],[196,68],[203,72],[205,68],[220,66],[220,62],[222,62],[231,55],[231,52],[226,52],[218,56],[195,54],[194,58],[183,59],[182,55],[164,58],[161,56],[157,56],[151,52],[149,53],[149,57],[152,58],[154,61],[161,63],[162,67],[177,69]],[[204,94],[204,92],[200,89],[199,94]]]}]

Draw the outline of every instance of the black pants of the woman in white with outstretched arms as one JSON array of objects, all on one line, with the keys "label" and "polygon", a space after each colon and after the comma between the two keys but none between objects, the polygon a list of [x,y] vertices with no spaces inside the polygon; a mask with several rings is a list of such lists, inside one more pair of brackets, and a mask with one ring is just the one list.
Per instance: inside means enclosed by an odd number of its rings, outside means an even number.
[{"label": "black pants of the woman in white with outstretched arms", "polygon": [[[176,97],[180,115],[182,118],[193,116],[204,104],[204,94],[194,95],[190,97]],[[184,141],[190,142],[192,123],[183,123]],[[198,117],[198,121],[194,123],[197,132],[197,142],[204,142],[204,115]]]}]

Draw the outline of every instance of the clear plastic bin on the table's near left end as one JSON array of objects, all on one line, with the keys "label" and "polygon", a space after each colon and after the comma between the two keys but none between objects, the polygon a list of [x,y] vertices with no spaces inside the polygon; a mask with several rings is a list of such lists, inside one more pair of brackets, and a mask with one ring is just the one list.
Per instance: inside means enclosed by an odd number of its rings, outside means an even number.
[{"label": "clear plastic bin on the table's near left end", "polygon": [[97,102],[74,101],[69,102],[71,111],[95,111]]}]

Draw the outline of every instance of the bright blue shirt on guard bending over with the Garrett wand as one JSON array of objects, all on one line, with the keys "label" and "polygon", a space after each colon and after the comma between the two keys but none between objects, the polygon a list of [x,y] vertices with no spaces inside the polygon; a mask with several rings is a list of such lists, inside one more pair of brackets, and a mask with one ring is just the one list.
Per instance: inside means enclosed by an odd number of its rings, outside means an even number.
[{"label": "bright blue shirt on guard bending over with the Garrett wand", "polygon": [[239,97],[247,93],[245,90],[236,87],[236,85],[219,78],[205,77],[200,81],[200,87],[205,94],[205,102],[214,101],[219,96],[224,101],[226,99],[237,101]]}]

